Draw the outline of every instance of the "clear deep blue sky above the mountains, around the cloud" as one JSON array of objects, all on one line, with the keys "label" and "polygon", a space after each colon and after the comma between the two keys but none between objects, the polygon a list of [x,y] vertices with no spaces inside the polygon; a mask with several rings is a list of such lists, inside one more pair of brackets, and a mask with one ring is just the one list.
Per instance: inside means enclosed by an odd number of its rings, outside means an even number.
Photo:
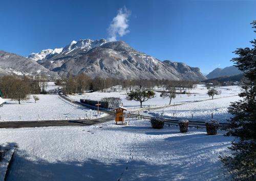
[{"label": "clear deep blue sky above the mountains, around the cloud", "polygon": [[[130,16],[123,40],[160,60],[203,73],[232,64],[232,51],[255,38],[256,1],[8,1],[0,2],[0,50],[28,56],[72,40],[110,38],[120,8]],[[129,31],[129,32],[128,32]]]}]

